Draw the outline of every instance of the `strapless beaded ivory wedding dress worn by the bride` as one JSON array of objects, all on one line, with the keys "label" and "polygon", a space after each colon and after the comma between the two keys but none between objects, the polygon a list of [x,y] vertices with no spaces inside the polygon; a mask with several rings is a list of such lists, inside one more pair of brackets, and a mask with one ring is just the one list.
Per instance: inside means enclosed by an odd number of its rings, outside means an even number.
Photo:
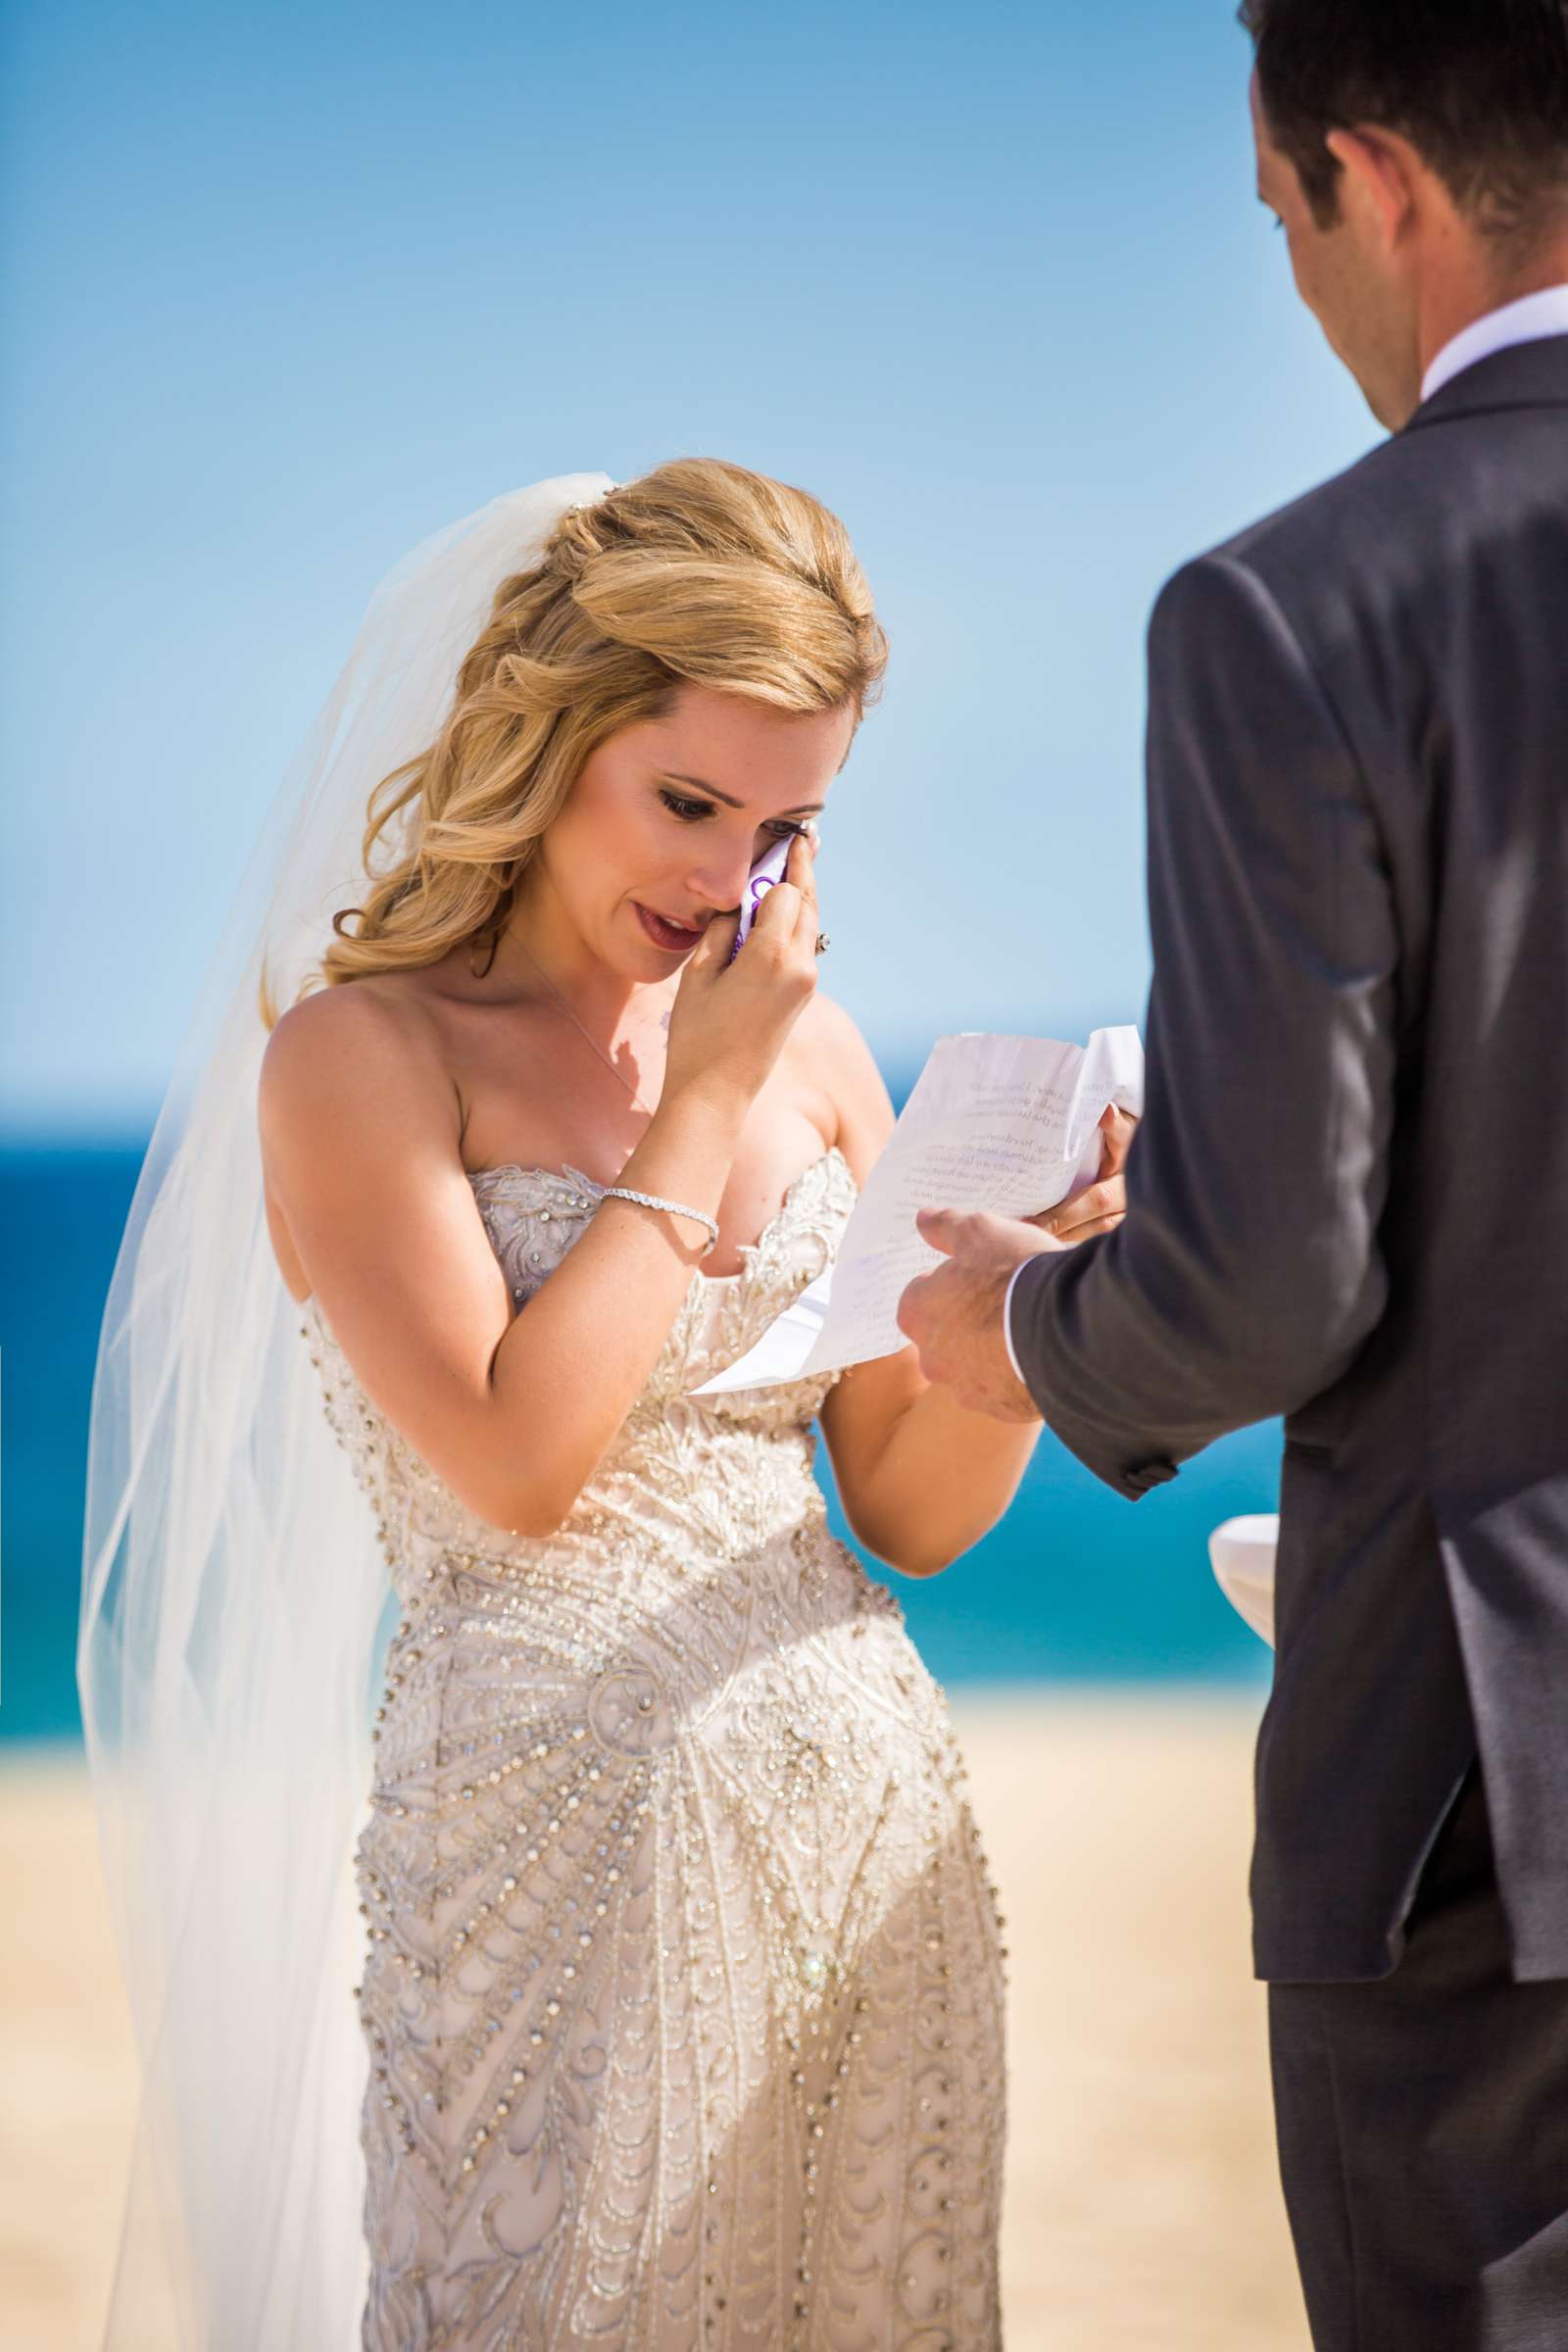
[{"label": "strapless beaded ivory wedding dress worn by the bride", "polygon": [[[527,1310],[599,1188],[470,1181]],[[548,1538],[468,1512],[301,1310],[402,1599],[357,1846],[371,2352],[1001,2340],[1001,1922],[947,1710],[827,1534],[832,1374],[693,1395],[853,1192],[825,1152],[691,1277]]]}]

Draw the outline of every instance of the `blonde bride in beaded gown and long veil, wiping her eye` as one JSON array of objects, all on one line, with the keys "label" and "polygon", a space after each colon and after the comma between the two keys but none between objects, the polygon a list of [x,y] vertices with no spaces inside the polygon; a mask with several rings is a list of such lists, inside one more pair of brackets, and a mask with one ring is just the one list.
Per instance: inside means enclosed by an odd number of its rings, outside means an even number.
[{"label": "blonde bride in beaded gown and long veil, wiping her eye", "polygon": [[545,482],[381,586],[284,786],[94,1388],[113,2343],[999,2343],[1001,1922],[811,1423],[910,1576],[1037,1428],[912,1350],[705,1392],[891,1129],[816,995],[884,652],[806,494]]}]

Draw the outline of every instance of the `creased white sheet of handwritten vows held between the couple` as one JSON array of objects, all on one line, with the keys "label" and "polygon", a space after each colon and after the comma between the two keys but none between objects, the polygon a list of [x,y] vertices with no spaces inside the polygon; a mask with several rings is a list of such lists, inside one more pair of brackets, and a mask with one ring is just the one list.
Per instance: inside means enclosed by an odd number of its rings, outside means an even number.
[{"label": "creased white sheet of handwritten vows held between the couple", "polygon": [[917,1211],[1056,1209],[1093,1183],[1110,1103],[1143,1110],[1135,1028],[1095,1030],[1086,1047],[1056,1037],[940,1037],[853,1207],[837,1263],[696,1395],[776,1388],[896,1355],[905,1345],[898,1301],[940,1263],[919,1237]]}]

